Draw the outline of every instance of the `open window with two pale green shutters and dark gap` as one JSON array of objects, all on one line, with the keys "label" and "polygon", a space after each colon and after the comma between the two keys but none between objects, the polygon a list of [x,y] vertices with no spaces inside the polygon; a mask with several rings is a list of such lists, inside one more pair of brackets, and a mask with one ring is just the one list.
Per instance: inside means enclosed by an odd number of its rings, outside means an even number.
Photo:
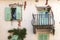
[{"label": "open window with two pale green shutters and dark gap", "polygon": [[16,8],[5,8],[5,20],[21,20],[22,13],[21,13],[21,7],[17,6]]}]

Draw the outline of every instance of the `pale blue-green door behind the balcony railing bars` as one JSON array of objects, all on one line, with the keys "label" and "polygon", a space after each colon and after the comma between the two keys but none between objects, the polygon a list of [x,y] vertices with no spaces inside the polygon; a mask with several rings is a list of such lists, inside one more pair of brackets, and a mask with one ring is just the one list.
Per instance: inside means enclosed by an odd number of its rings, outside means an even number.
[{"label": "pale blue-green door behind the balcony railing bars", "polygon": [[38,15],[38,23],[40,25],[48,25],[49,21],[49,14],[46,11],[39,12]]}]

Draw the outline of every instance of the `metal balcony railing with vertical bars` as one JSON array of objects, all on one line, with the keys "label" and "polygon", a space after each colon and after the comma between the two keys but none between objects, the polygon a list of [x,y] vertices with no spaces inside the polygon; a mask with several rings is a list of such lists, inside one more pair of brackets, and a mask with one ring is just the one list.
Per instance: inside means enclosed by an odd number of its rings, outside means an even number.
[{"label": "metal balcony railing with vertical bars", "polygon": [[53,14],[33,14],[32,25],[54,25]]}]

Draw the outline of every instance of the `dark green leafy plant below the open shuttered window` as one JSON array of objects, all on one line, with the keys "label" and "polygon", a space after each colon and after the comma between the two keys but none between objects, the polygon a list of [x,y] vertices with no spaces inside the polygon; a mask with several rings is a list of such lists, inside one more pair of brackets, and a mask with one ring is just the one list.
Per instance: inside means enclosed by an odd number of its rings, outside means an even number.
[{"label": "dark green leafy plant below the open shuttered window", "polygon": [[17,35],[18,38],[17,40],[24,40],[24,38],[26,37],[26,29],[12,29],[12,30],[8,30],[8,33],[11,33],[12,35],[8,36],[8,39],[10,40],[12,38],[12,36]]}]

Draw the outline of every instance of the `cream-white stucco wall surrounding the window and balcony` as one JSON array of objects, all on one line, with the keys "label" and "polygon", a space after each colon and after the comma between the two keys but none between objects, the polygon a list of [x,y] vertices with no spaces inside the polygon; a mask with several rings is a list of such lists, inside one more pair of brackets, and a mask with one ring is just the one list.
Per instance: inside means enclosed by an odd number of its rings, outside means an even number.
[{"label": "cream-white stucco wall surrounding the window and balcony", "polygon": [[[0,40],[8,40],[8,30],[12,28],[17,28],[18,23],[15,21],[13,25],[11,22],[7,22],[4,19],[4,8],[7,7],[10,3],[20,3],[20,1],[0,1]],[[37,3],[38,5],[44,5],[43,3]],[[27,29],[27,36],[25,40],[37,40],[37,35],[33,34],[33,26],[31,25],[32,13],[36,13],[34,2],[27,2],[26,10],[23,10],[21,22],[21,28],[25,27]],[[50,1],[49,5],[52,7],[55,19],[55,35],[52,38],[53,40],[60,40],[60,3],[56,1]],[[51,40],[52,40],[51,39]]]}]

